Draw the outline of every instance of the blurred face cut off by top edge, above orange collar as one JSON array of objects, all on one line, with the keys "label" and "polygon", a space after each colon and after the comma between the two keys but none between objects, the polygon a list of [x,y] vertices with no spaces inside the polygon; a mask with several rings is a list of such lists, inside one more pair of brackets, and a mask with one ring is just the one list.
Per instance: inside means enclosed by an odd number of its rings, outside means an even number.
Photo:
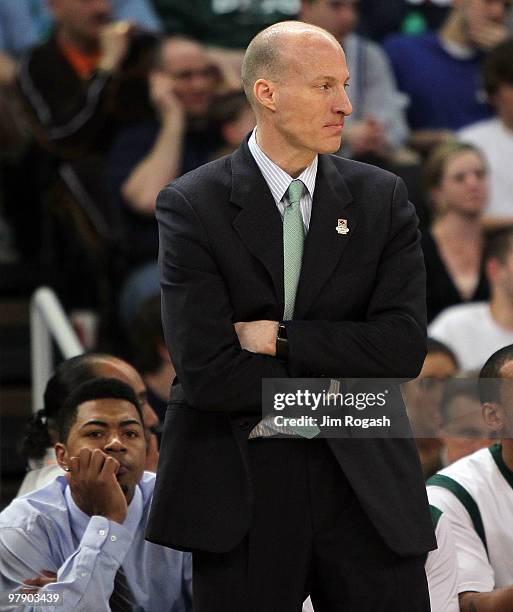
[{"label": "blurred face cut off by top edge, above orange collar", "polygon": [[111,20],[110,0],[50,0],[49,6],[59,26],[79,41],[98,41]]}]

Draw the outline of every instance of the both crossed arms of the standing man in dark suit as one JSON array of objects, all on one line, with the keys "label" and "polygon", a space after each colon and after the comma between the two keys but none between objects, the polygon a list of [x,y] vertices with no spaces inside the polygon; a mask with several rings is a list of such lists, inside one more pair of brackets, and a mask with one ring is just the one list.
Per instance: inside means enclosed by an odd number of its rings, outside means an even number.
[{"label": "both crossed arms of the standing man in dark suit", "polygon": [[388,240],[362,320],[287,322],[289,364],[283,364],[275,358],[277,322],[237,321],[205,221],[174,186],[161,192],[164,332],[192,405],[260,413],[262,378],[286,378],[289,372],[417,375],[425,354],[423,259],[416,217],[400,181],[392,200]]}]

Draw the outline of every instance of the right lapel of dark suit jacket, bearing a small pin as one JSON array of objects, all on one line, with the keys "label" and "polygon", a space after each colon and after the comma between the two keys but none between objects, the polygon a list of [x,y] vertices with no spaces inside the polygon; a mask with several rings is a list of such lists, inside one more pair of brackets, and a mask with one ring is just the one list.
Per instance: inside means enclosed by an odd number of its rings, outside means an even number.
[{"label": "right lapel of dark suit jacket, bearing a small pin", "polygon": [[[331,277],[358,223],[356,206],[340,172],[327,155],[319,155],[310,229],[296,295],[294,318],[303,319]],[[349,232],[336,231],[339,219],[347,220]]]}]

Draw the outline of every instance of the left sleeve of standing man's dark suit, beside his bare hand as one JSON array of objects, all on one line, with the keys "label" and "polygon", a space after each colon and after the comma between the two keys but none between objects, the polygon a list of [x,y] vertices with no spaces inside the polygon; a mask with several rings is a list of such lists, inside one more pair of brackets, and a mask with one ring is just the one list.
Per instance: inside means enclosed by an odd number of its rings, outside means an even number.
[{"label": "left sleeve of standing man's dark suit, beside his bare hand", "polygon": [[286,378],[286,366],[241,348],[207,233],[174,187],[160,193],[157,220],[164,335],[187,400],[199,409],[260,414],[262,378]]}]

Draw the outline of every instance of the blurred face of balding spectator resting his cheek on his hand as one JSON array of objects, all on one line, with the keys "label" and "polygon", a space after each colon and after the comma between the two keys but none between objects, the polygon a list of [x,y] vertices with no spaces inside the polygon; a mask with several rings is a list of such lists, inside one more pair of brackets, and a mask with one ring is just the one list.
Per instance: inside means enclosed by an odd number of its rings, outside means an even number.
[{"label": "blurred face of balding spectator resting his cheek on his hand", "polygon": [[189,41],[170,41],[162,49],[162,72],[189,117],[204,117],[219,75],[203,49]]}]

